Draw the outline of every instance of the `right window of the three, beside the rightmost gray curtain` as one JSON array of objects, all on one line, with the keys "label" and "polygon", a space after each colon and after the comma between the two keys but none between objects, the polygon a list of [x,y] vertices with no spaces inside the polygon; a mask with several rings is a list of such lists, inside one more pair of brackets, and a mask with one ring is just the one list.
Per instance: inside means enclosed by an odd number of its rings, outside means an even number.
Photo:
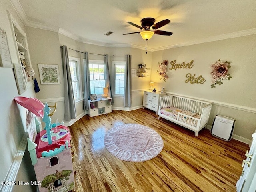
[{"label": "right window of the three, beside the rightmost gray curtain", "polygon": [[124,67],[125,62],[112,62],[114,63],[114,93],[117,95],[124,94]]}]

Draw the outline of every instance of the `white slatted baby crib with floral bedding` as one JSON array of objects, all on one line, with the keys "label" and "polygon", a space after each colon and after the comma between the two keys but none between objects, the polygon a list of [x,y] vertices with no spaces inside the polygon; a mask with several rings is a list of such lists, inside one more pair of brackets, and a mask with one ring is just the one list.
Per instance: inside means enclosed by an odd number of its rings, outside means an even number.
[{"label": "white slatted baby crib with floral bedding", "polygon": [[[169,116],[169,114],[163,114],[163,108],[170,107],[178,108],[178,112],[176,112],[176,114],[174,115],[175,117]],[[168,94],[166,96],[160,97],[158,119],[162,117],[170,120],[171,122],[174,122],[194,131],[195,135],[198,136],[198,132],[208,124],[211,109],[211,102]],[[193,115],[196,115],[191,116],[186,114],[185,112],[189,114],[191,112],[191,114],[193,113]]]}]

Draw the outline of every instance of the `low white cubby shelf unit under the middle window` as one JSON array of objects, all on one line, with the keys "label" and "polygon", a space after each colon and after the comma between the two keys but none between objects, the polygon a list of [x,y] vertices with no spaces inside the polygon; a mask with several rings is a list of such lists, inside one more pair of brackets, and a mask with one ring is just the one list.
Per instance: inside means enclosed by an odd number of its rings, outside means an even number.
[{"label": "low white cubby shelf unit under the middle window", "polygon": [[88,100],[89,110],[88,114],[90,117],[102,115],[112,112],[112,98],[98,98],[96,100]]}]

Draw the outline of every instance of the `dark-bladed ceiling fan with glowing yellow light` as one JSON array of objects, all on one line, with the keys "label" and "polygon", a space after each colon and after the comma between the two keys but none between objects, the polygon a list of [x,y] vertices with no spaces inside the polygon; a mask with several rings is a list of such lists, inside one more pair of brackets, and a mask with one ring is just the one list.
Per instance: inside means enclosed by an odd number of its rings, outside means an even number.
[{"label": "dark-bladed ceiling fan with glowing yellow light", "polygon": [[155,21],[156,20],[154,18],[151,18],[151,17],[144,18],[140,21],[141,26],[136,25],[136,24],[128,21],[129,24],[141,29],[142,31],[133,32],[133,33],[126,33],[126,34],[123,34],[123,35],[140,33],[140,35],[142,36],[142,38],[144,40],[149,40],[150,38],[152,38],[152,36],[154,34],[156,34],[156,35],[168,35],[168,36],[172,35],[172,32],[155,30],[155,29],[158,29],[158,28],[170,23],[169,19],[162,20],[162,21],[160,21],[156,24],[155,24]]}]

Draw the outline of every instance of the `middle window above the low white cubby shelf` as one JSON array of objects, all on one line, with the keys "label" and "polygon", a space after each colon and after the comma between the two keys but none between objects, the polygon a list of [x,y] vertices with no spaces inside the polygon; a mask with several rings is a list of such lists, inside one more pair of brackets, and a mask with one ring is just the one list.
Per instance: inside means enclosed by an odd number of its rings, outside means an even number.
[{"label": "middle window above the low white cubby shelf", "polygon": [[106,67],[102,60],[89,60],[90,70],[90,93],[103,94],[106,86]]}]

